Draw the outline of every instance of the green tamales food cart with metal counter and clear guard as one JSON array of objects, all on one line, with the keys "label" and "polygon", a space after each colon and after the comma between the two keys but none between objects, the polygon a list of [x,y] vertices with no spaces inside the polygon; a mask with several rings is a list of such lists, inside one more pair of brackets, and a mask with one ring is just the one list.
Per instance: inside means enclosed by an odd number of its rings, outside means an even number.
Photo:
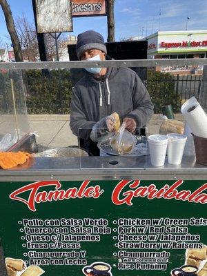
[{"label": "green tamales food cart with metal counter and clear guard", "polygon": [[[11,97],[0,134],[16,135],[6,150],[19,150],[32,133],[25,70],[206,63],[2,63]],[[150,155],[33,157],[0,170],[0,189],[1,276],[207,275],[207,167],[195,156],[161,167],[152,166]]]}]

